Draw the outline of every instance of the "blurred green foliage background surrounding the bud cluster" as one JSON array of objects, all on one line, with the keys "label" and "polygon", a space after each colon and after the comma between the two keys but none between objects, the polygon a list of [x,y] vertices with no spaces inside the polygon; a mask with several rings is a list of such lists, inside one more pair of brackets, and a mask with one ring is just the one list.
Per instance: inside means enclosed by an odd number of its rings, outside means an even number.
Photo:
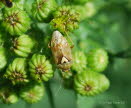
[{"label": "blurred green foliage background surrounding the bud cluster", "polygon": [[[31,3],[25,0],[24,7],[30,13]],[[129,108],[131,106],[131,0],[90,0],[95,3],[96,14],[80,23],[71,38],[75,50],[87,53],[90,49],[103,47],[109,52],[110,64],[104,74],[111,86],[106,92],[94,97],[77,95],[74,90],[64,88],[63,80],[55,77],[45,84],[44,98],[36,104],[20,100],[13,105],[0,103],[0,108]],[[59,5],[70,4],[71,0],[57,0]],[[50,35],[48,24],[35,23],[34,35]]]}]

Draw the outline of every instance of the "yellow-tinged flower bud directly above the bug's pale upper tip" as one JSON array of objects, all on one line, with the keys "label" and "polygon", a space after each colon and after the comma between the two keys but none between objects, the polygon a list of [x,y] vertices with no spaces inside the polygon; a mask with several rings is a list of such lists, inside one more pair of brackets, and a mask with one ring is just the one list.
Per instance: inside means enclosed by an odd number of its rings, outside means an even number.
[{"label": "yellow-tinged flower bud directly above the bug's pale upper tip", "polygon": [[77,29],[78,22],[79,14],[69,6],[62,6],[54,12],[54,18],[50,24],[54,29],[66,33]]}]

